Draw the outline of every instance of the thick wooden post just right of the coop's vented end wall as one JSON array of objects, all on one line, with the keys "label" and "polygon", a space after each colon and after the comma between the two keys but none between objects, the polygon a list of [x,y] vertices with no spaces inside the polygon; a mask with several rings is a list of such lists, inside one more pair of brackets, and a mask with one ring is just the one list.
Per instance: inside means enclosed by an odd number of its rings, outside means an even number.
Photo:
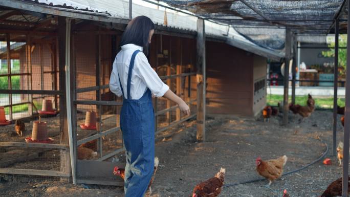
[{"label": "thick wooden post just right of the coop's vented end wall", "polygon": [[292,52],[292,32],[290,28],[286,28],[286,58],[285,58],[285,77],[283,80],[284,91],[283,91],[283,120],[282,124],[288,124],[288,85],[289,85],[289,61]]}]

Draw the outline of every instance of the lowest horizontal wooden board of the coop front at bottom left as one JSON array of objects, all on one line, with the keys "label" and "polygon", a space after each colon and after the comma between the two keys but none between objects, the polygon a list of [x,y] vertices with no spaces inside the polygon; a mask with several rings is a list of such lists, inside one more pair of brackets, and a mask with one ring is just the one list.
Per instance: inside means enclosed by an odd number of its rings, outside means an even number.
[{"label": "lowest horizontal wooden board of the coop front at bottom left", "polygon": [[4,174],[26,174],[34,176],[51,176],[51,177],[70,177],[69,173],[63,173],[56,170],[34,170],[34,169],[12,169],[0,168],[0,173]]}]

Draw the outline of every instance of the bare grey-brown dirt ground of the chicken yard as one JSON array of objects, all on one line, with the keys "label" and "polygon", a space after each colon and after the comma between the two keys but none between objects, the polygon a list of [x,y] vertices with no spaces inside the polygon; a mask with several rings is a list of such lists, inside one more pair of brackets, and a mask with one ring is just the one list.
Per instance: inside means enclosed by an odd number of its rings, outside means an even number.
[{"label": "bare grey-brown dirt ground of the chicken yard", "polygon": [[[211,178],[220,167],[226,168],[225,183],[237,183],[260,178],[255,171],[255,159],[288,156],[285,171],[300,168],[319,158],[325,146],[332,165],[322,161],[307,169],[276,180],[271,189],[268,181],[224,188],[220,196],[282,196],[287,189],[291,196],[318,196],[329,183],[341,176],[341,167],[332,152],[332,112],[316,111],[299,123],[299,116],[290,114],[289,125],[280,126],[281,117],[264,123],[261,118],[235,116],[208,117],[207,140],[195,142],[195,122],[188,121],[157,135],[156,156],[160,159],[152,195],[189,196],[200,181]],[[338,120],[340,116],[338,117]],[[343,128],[338,121],[338,140]],[[119,159],[125,161],[124,156]],[[89,187],[89,188],[87,188]],[[0,176],[0,196],[123,196],[122,187],[72,185],[54,178]]]}]

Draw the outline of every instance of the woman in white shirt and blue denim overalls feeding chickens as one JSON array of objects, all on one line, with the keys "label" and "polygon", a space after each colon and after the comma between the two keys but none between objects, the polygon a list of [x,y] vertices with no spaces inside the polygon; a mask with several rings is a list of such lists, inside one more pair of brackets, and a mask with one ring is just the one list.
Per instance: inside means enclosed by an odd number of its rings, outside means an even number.
[{"label": "woman in white shirt and blue denim overalls feeding chickens", "polygon": [[123,95],[120,127],[126,149],[126,197],[142,197],[152,177],[155,159],[155,116],[152,95],[176,102],[189,115],[188,105],[159,78],[146,55],[155,24],[146,17],[131,20],[122,35],[110,79],[110,89]]}]

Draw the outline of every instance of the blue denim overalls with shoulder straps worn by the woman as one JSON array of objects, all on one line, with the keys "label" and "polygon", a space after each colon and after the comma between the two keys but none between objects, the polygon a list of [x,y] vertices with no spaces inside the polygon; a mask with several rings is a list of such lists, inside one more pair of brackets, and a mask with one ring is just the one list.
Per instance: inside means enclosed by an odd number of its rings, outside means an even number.
[{"label": "blue denim overalls with shoulder straps worn by the woman", "polygon": [[140,51],[133,53],[127,76],[127,99],[124,96],[120,112],[120,128],[126,149],[125,197],[142,197],[146,192],[154,171],[155,163],[155,114],[152,105],[152,94],[147,88],[138,99],[130,98],[130,82],[135,57]]}]

